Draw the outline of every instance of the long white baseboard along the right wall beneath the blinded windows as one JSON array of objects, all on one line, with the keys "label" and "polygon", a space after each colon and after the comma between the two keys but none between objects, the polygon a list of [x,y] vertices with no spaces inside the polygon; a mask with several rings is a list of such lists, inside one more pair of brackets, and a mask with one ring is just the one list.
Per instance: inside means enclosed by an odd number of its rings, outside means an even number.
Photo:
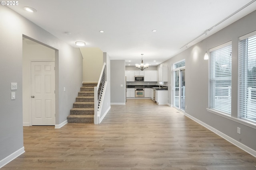
[{"label": "long white baseboard along the right wall beneath the blinded windows", "polygon": [[186,116],[189,117],[190,119],[196,121],[196,122],[199,123],[200,125],[206,127],[206,128],[209,129],[210,131],[216,133],[216,134],[219,135],[220,137],[226,139],[226,140],[229,141],[230,143],[236,145],[238,148],[240,148],[240,149],[244,150],[245,152],[251,154],[252,156],[256,157],[256,150],[253,150],[253,149],[247,147],[246,145],[244,145],[244,144],[242,144],[242,143],[236,141],[235,139],[229,137],[228,135],[226,135],[226,134],[224,134],[224,133],[218,131],[217,129],[215,129],[215,128],[213,128],[213,127],[207,125],[206,123],[204,123],[204,122],[202,122],[202,121],[196,119],[195,117],[189,115],[188,113],[184,113],[184,115],[186,115]]}]

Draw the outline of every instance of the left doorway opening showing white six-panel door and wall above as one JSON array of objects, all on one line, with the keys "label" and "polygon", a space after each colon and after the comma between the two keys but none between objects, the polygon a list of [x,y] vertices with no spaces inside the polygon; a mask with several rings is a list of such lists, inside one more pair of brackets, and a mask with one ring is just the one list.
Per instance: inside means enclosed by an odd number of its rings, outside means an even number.
[{"label": "left doorway opening showing white six-panel door and wall above", "polygon": [[22,37],[23,126],[56,124],[55,58],[55,49]]}]

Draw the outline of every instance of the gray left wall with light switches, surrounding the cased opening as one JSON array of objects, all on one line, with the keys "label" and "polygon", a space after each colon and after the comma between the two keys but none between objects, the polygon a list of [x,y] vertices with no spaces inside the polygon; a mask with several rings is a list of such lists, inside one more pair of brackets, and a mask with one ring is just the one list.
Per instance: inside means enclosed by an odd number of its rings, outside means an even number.
[{"label": "gray left wall with light switches, surrounding the cased opening", "polygon": [[[82,84],[82,55],[6,6],[0,6],[0,160],[23,147],[22,35],[55,49],[56,124],[66,120]],[[17,82],[18,90],[10,90]],[[66,92],[63,92],[66,87]],[[11,92],[16,99],[11,100]],[[54,127],[53,127],[54,128]]]}]

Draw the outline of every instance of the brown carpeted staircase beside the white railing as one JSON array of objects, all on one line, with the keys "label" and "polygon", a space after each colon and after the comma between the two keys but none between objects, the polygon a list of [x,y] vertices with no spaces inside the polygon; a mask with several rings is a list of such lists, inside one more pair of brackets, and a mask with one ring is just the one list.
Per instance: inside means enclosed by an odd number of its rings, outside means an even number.
[{"label": "brown carpeted staircase beside the white railing", "polygon": [[70,109],[68,123],[94,123],[94,86],[97,83],[83,83],[73,109]]}]

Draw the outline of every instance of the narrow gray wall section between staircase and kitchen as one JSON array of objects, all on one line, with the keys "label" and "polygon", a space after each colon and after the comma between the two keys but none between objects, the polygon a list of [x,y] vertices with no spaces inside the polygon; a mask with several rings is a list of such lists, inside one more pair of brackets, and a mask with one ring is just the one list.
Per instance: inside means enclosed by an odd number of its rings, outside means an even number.
[{"label": "narrow gray wall section between staircase and kitchen", "polygon": [[[125,61],[110,60],[110,102],[125,104]],[[123,85],[122,87],[120,85]]]}]

